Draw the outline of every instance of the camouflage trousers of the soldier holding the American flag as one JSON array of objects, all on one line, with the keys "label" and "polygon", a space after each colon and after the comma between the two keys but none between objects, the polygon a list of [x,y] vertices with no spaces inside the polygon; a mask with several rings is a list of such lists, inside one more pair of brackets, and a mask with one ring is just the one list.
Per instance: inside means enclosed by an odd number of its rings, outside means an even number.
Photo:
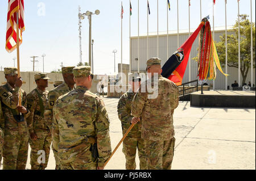
[{"label": "camouflage trousers of the soldier holding the American flag", "polygon": [[18,133],[5,129],[3,170],[24,170],[27,165],[28,131]]}]

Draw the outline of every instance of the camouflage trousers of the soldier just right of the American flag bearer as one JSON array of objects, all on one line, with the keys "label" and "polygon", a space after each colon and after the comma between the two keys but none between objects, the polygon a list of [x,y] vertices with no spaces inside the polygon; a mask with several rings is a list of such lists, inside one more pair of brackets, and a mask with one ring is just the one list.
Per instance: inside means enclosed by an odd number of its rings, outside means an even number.
[{"label": "camouflage trousers of the soldier just right of the American flag bearer", "polygon": [[48,131],[35,132],[38,138],[30,139],[30,165],[31,170],[44,170],[49,160],[49,152],[51,150],[52,136],[48,135]]}]

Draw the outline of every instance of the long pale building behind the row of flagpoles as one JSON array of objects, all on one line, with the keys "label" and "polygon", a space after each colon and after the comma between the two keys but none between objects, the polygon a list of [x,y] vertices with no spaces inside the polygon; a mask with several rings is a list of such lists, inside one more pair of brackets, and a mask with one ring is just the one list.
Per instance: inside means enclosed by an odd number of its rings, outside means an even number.
[{"label": "long pale building behind the row of flagpoles", "polygon": [[[228,27],[228,34],[232,33],[232,26]],[[191,34],[194,30],[191,30]],[[188,39],[188,30],[179,31],[179,47]],[[225,36],[225,27],[214,27],[214,41],[220,41],[220,36]],[[199,45],[198,36],[193,43],[191,49],[191,81],[197,79],[197,62],[192,60],[193,57],[197,56],[197,48]],[[171,57],[177,48],[177,31],[169,31],[168,35],[168,58]],[[157,57],[157,33],[149,33],[148,35],[148,57]],[[159,58],[162,60],[161,65],[168,60],[167,58],[167,32],[159,32]],[[238,55],[237,55],[238,58]],[[139,36],[139,70],[144,72],[146,70],[147,61],[147,34]],[[255,61],[255,60],[254,60]],[[217,68],[216,68],[217,69]],[[222,67],[225,73],[225,66]],[[251,70],[251,69],[250,69]],[[250,70],[247,74],[246,83],[251,80]],[[131,71],[138,71],[138,36],[131,37]],[[238,81],[238,69],[228,67],[228,86]],[[254,69],[254,82],[255,82],[255,69]],[[183,83],[189,82],[189,62],[187,64],[187,69],[183,77]],[[242,75],[241,75],[242,82]],[[208,85],[212,85],[213,81],[207,81]],[[215,89],[225,90],[225,76],[217,69],[217,76],[215,79]]]}]

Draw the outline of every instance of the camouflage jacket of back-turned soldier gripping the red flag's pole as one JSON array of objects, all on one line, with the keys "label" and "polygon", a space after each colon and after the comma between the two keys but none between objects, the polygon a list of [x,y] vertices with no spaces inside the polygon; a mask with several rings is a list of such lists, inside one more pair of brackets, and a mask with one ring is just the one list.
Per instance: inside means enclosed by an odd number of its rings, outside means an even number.
[{"label": "camouflage jacket of back-turned soldier gripping the red flag's pole", "polygon": [[[157,81],[157,82],[156,82]],[[147,85],[156,86],[156,98],[149,98]],[[151,85],[150,85],[151,84]],[[142,91],[146,87],[146,91]],[[173,114],[179,104],[179,90],[174,82],[158,75],[142,83],[133,99],[131,114],[142,116],[142,138],[152,141],[170,140],[174,137]]]}]

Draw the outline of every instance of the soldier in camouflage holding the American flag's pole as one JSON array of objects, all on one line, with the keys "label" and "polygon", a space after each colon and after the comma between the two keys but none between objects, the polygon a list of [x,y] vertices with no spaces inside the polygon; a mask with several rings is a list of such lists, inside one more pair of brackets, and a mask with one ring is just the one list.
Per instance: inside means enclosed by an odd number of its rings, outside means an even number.
[{"label": "soldier in camouflage holding the American flag's pole", "polygon": [[[1,86],[3,96],[17,94],[15,81],[18,79],[16,68],[5,68],[5,78],[7,83]],[[3,143],[3,169],[4,170],[24,170],[27,163],[28,152],[28,128],[26,117],[30,115],[27,110],[26,92],[20,89],[22,106],[15,109],[10,108],[4,102],[2,104],[3,117],[5,119],[5,137]],[[22,116],[20,116],[22,113]]]}]

